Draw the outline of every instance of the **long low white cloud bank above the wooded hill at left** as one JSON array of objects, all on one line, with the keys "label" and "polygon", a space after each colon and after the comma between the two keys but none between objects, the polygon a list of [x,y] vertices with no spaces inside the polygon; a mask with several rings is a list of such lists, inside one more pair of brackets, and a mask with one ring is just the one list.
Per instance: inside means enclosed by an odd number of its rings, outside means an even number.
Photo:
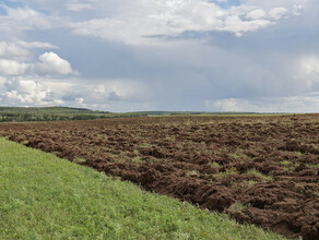
[{"label": "long low white cloud bank above the wooded hill at left", "polygon": [[[79,81],[83,81],[81,84]],[[143,105],[147,89],[132,80],[104,80],[85,83],[84,80],[39,76],[0,77],[0,98],[10,105],[68,105],[105,109],[110,103]],[[117,105],[117,104],[115,104]],[[114,109],[116,110],[116,109]]]}]

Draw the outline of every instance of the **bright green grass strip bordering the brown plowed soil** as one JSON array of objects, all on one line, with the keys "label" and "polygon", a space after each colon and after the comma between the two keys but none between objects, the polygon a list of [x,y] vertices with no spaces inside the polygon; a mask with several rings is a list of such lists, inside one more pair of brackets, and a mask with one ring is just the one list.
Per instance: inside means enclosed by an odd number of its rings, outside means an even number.
[{"label": "bright green grass strip bordering the brown plowed soil", "polygon": [[0,239],[282,239],[0,139]]}]

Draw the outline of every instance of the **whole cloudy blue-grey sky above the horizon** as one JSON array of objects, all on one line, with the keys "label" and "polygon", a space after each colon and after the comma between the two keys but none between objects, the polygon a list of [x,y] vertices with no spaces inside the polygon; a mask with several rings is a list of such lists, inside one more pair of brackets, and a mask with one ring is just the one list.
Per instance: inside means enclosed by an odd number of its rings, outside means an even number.
[{"label": "whole cloudy blue-grey sky above the horizon", "polygon": [[0,106],[318,112],[318,0],[0,0]]}]

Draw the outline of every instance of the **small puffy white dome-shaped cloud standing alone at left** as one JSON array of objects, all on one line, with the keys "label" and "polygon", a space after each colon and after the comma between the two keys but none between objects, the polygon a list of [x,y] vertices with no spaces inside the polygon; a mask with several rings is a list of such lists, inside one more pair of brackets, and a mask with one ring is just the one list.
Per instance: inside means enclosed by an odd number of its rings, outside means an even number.
[{"label": "small puffy white dome-shaped cloud standing alone at left", "polygon": [[34,71],[38,74],[70,74],[73,73],[70,62],[50,51],[39,56],[40,63],[35,64]]}]

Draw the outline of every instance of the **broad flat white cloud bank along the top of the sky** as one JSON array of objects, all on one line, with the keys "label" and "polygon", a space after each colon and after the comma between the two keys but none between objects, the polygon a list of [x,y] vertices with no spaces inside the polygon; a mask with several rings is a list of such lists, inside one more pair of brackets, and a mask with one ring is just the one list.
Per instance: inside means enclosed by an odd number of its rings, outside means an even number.
[{"label": "broad flat white cloud bank along the top of the sky", "polygon": [[245,4],[222,9],[206,0],[137,0],[123,4],[114,16],[92,19],[70,26],[74,34],[128,45],[158,44],[163,39],[158,40],[156,36],[176,36],[186,31],[226,31],[241,36],[274,24],[273,20],[277,21],[288,13],[285,8],[272,8],[268,14],[267,11]]}]

